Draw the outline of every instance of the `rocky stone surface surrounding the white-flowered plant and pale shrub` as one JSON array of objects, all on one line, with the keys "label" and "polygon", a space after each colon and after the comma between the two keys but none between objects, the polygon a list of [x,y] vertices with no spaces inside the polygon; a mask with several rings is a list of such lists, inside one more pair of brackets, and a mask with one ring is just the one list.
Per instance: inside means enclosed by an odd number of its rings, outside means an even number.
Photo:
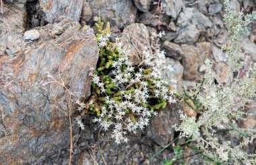
[{"label": "rocky stone surface surrounding the white-flowered plant and pale shrub", "polygon": [[[235,11],[244,9],[251,13],[256,9],[255,1],[231,0],[231,3]],[[166,51],[166,63],[174,67],[174,73],[164,73],[164,77],[176,77],[178,85],[182,83],[185,89],[191,89],[205,73],[207,58],[212,60],[217,83],[226,82],[226,54],[220,53],[228,37],[223,13],[222,0],[3,1],[3,12],[0,9],[0,164],[11,161],[11,164],[67,164],[67,93],[57,84],[40,87],[51,80],[45,75],[49,71],[56,78],[61,73],[74,92],[90,94],[90,83],[84,85],[89,82],[84,71],[96,65],[97,48],[88,26],[93,28],[99,16],[104,22],[110,22],[113,36],[120,37],[125,48],[131,51],[129,58],[134,64],[141,61],[139,54],[145,46],[151,46],[150,51],[160,47]],[[28,30],[36,30],[40,35]],[[158,40],[159,32],[165,35]],[[255,35],[256,22],[241,38],[241,48],[252,61],[256,61]],[[177,106],[160,110],[148,129],[129,135],[129,143],[122,145],[115,145],[109,133],[100,131],[98,125],[91,122],[92,118],[87,117],[85,131],[74,127],[73,137],[78,140],[72,163],[160,164],[162,158],[172,158],[171,150],[164,150],[149,160],[177,136],[172,125],[178,122],[177,109],[182,105]],[[187,112],[195,115],[191,110]],[[242,125],[249,128],[255,123],[248,117]],[[205,164],[193,158],[187,162]]]}]

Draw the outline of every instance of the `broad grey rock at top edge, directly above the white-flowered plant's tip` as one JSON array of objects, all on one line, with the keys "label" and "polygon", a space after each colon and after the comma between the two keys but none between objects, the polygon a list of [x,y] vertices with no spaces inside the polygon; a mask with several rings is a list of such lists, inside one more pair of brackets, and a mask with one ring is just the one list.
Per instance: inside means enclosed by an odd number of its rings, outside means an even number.
[{"label": "broad grey rock at top edge, directly above the white-flowered plant's tip", "polygon": [[90,7],[94,16],[100,16],[103,22],[114,21],[119,28],[134,23],[137,14],[133,1],[127,0],[92,0]]}]

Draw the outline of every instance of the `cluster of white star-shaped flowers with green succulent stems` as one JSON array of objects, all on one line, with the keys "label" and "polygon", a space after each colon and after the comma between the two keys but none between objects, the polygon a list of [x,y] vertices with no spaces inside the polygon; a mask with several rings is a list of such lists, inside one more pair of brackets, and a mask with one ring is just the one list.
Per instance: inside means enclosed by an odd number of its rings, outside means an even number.
[{"label": "cluster of white star-shaped flowers with green succulent stems", "polygon": [[[103,24],[98,22],[98,25]],[[150,53],[145,47],[142,61],[137,66],[129,61],[129,51],[123,48],[119,38],[110,42],[108,30],[97,35],[100,46],[100,59],[96,70],[91,69],[92,96],[84,112],[96,112],[94,122],[104,131],[112,130],[116,143],[127,142],[127,133],[136,133],[149,125],[150,117],[157,109],[164,108],[169,102],[176,102],[173,94],[177,92],[177,81],[162,79],[162,70],[173,71],[165,66],[164,51]],[[79,109],[78,109],[79,110]]]}]

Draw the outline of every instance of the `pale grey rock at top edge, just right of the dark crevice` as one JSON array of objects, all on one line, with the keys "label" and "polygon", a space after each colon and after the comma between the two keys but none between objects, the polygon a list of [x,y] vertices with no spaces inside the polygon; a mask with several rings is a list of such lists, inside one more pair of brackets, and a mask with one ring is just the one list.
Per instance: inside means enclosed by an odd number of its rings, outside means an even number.
[{"label": "pale grey rock at top edge, just right of the dark crevice", "polygon": [[51,24],[65,18],[73,22],[78,22],[83,3],[83,0],[40,0],[40,7],[45,13],[44,20]]}]

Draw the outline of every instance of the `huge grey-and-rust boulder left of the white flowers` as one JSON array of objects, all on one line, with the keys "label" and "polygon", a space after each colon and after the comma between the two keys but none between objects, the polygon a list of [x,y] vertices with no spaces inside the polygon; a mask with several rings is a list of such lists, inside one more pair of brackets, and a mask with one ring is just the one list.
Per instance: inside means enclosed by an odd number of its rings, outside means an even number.
[{"label": "huge grey-and-rust boulder left of the white flowers", "polygon": [[[56,28],[61,35],[51,33]],[[88,72],[98,59],[93,30],[69,20],[36,30],[38,40],[25,42],[20,36],[15,47],[9,46],[15,50],[0,56],[0,164],[43,164],[69,145],[68,94],[48,83],[53,81],[49,75],[58,81],[61,76],[73,94],[90,95]],[[0,45],[9,42],[1,38]]]}]

